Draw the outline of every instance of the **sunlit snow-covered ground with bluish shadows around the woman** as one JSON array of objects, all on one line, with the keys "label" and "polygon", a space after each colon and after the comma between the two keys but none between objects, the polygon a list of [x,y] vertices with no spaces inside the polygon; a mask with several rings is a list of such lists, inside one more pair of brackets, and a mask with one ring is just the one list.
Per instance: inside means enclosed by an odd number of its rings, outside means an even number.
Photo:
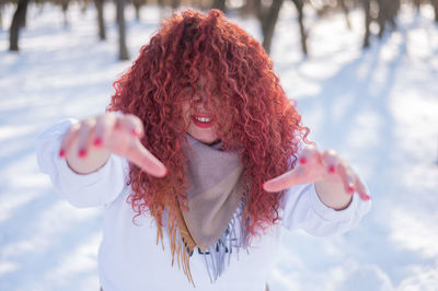
[{"label": "sunlit snow-covered ground with bluish shadows around the woman", "polygon": [[[285,233],[269,280],[280,290],[438,290],[438,26],[433,11],[405,9],[399,32],[362,51],[360,12],[308,20],[311,57],[299,49],[296,13],[281,11],[273,59],[298,101],[311,138],[334,148],[362,174],[373,208],[354,231],[331,238]],[[104,110],[116,60],[116,26],[97,42],[94,11],[78,7],[64,27],[60,9],[30,8],[20,54],[0,28],[0,290],[97,290],[99,209],[60,199],[37,170],[34,140],[65,117]],[[4,25],[12,9],[8,8]],[[106,18],[114,9],[106,7]],[[157,30],[155,8],[134,21],[134,59]],[[260,39],[252,19],[233,20]],[[435,81],[434,81],[435,80]]]}]

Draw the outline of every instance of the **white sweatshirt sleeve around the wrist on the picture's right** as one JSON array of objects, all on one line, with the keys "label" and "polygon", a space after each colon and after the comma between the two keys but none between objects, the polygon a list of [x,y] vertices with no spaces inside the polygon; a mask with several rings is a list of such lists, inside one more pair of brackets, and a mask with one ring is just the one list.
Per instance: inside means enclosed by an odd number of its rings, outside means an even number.
[{"label": "white sweatshirt sleeve around the wrist on the picture's right", "polygon": [[346,209],[334,210],[320,200],[314,184],[298,185],[289,188],[281,201],[283,225],[315,236],[341,234],[359,223],[370,207],[371,200],[364,201],[355,194]]}]

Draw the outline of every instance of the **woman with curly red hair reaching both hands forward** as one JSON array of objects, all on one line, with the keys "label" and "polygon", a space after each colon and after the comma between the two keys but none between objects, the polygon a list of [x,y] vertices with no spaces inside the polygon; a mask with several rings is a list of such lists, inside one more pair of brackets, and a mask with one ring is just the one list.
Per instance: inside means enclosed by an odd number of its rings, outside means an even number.
[{"label": "woman with curly red hair reaching both hands forward", "polygon": [[272,61],[220,11],[166,20],[115,90],[37,150],[72,205],[104,206],[104,291],[264,290],[283,228],[341,233],[370,207],[335,151],[304,147]]}]

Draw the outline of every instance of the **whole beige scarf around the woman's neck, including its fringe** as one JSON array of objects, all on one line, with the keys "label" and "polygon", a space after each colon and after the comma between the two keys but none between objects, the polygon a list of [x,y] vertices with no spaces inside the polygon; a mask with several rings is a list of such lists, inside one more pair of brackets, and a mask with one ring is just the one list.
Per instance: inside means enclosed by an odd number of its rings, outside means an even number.
[{"label": "whole beige scarf around the woman's neck, including its fringe", "polygon": [[[189,256],[197,246],[200,254],[210,257],[211,263],[206,258],[206,264],[214,281],[224,270],[224,254],[229,257],[231,248],[237,247],[230,242],[235,241],[231,236],[238,236],[233,226],[233,216],[244,191],[241,184],[243,166],[239,154],[223,151],[222,143],[207,146],[188,135],[187,140],[189,148],[185,147],[183,151],[188,159],[188,210],[180,207],[175,213],[176,224],[168,222],[171,252],[172,257],[176,253],[178,265],[181,260],[184,272],[194,283],[189,270]],[[230,229],[233,229],[234,233],[231,233]],[[159,235],[162,236],[161,231]],[[183,244],[185,247],[182,247]],[[172,264],[173,261],[172,259]],[[209,268],[212,269],[212,275]]]}]

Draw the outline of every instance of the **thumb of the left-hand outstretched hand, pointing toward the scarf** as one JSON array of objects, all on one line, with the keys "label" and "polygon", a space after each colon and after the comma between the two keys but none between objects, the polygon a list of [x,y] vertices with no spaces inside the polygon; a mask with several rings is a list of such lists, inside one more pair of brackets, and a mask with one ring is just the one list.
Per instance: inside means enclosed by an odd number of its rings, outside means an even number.
[{"label": "thumb of the left-hand outstretched hand, pointing toward the scarf", "polygon": [[164,164],[151,154],[138,138],[132,138],[126,158],[152,176],[164,177],[168,174]]}]

